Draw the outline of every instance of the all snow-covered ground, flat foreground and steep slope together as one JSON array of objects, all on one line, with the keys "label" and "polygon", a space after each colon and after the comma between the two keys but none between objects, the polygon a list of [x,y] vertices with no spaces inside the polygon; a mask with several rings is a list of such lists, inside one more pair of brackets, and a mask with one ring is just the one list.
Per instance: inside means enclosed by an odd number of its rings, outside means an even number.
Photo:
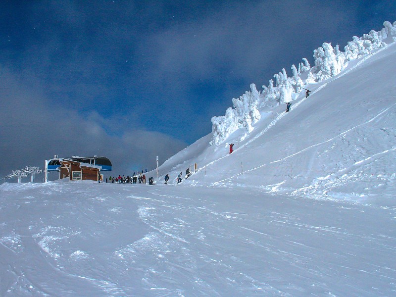
[{"label": "all snow-covered ground, flat foreground and steep slope together", "polygon": [[394,65],[350,61],[154,186],[1,185],[0,296],[396,296]]}]

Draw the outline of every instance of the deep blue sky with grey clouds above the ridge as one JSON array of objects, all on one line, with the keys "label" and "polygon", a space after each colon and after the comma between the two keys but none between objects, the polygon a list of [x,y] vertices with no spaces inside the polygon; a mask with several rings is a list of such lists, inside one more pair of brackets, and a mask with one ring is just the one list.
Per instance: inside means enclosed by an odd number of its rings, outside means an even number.
[{"label": "deep blue sky with grey clouds above the ridge", "polygon": [[395,1],[1,1],[0,175],[58,154],[152,169],[255,83],[323,42],[395,21]]}]

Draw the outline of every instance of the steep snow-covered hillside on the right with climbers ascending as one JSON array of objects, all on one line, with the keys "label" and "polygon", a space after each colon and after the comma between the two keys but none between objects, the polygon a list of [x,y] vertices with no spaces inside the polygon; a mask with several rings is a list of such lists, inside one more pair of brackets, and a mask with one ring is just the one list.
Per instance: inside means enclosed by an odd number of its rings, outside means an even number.
[{"label": "steep snow-covered hillside on the right with climbers ascending", "polygon": [[185,182],[395,205],[395,64],[393,43],[308,86],[311,95],[301,92],[289,113],[261,110],[251,133],[241,128],[218,146],[204,137],[159,171],[176,177],[198,163]]}]

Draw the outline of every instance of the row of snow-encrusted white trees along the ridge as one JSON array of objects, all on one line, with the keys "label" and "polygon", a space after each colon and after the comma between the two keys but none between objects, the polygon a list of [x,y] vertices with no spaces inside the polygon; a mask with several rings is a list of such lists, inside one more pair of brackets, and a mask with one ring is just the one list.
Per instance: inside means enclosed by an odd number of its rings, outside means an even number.
[{"label": "row of snow-encrusted white trees along the ridge", "polygon": [[395,36],[396,21],[393,24],[386,21],[381,31],[372,30],[362,37],[353,36],[344,51],[341,51],[338,45],[333,48],[330,43],[324,43],[322,47],[313,51],[315,66],[311,67],[308,60],[303,58],[298,68],[292,65],[291,77],[288,77],[285,69],[275,74],[275,86],[271,79],[268,87],[262,86],[263,91],[259,92],[256,86],[251,84],[249,92],[238,99],[232,99],[234,108],[229,107],[225,115],[212,118],[211,144],[222,143],[231,133],[242,127],[246,128],[247,133],[251,132],[252,124],[260,119],[260,108],[292,101],[304,86],[338,75],[347,66],[348,61],[396,42]]}]

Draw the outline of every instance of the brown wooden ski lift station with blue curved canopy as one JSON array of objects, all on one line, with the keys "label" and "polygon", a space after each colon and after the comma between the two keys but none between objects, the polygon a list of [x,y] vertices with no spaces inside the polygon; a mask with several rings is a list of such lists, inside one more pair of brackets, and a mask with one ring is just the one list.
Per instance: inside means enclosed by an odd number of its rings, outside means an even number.
[{"label": "brown wooden ski lift station with blue curved canopy", "polygon": [[111,171],[111,162],[106,157],[71,157],[47,161],[47,170],[59,171],[59,179],[68,177],[71,181],[92,180],[101,177],[99,171]]}]

